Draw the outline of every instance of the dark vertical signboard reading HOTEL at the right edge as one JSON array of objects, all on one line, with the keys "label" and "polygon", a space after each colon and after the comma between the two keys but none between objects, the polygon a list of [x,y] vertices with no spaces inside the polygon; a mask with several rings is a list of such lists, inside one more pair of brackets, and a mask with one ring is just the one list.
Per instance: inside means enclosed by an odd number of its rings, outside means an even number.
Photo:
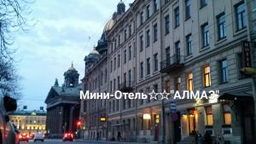
[{"label": "dark vertical signboard reading HOTEL at the right edge", "polygon": [[242,66],[252,67],[250,43],[248,41],[241,43]]}]

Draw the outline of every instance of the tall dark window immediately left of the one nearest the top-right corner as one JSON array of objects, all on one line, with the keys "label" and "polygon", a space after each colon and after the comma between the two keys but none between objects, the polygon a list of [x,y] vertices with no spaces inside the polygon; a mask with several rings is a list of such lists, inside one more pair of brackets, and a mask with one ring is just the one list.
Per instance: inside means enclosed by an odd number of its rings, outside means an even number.
[{"label": "tall dark window immediately left of the one nearest the top-right corner", "polygon": [[226,20],[225,14],[218,15],[218,39],[226,37]]}]

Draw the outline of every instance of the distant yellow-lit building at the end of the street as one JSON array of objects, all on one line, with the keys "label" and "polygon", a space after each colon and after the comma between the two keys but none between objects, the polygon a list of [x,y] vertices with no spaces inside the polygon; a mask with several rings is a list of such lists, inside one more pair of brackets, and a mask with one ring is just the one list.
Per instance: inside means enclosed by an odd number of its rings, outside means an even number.
[{"label": "distant yellow-lit building at the end of the street", "polygon": [[9,115],[9,119],[13,122],[20,131],[20,133],[26,133],[34,135],[38,132],[46,133],[46,112],[40,111],[25,111],[20,110],[12,112]]}]

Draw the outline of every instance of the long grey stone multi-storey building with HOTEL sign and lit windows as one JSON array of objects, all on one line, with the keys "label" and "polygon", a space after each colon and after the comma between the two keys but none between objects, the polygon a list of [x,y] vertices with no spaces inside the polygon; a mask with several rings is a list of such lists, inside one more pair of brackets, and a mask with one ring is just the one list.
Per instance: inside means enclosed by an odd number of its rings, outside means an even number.
[{"label": "long grey stone multi-storey building with HOTEL sign and lit windows", "polygon": [[[120,2],[105,32],[107,92],[213,89],[219,95],[212,101],[111,98],[104,107],[106,136],[175,143],[189,140],[196,132],[209,132],[212,136],[224,134],[231,143],[255,142],[255,70],[245,68],[256,64],[255,4],[242,0],[135,0],[125,11]],[[100,68],[102,65],[94,65],[91,73]],[[84,84],[90,82],[84,80]],[[171,101],[177,104],[175,113],[170,110]]]}]

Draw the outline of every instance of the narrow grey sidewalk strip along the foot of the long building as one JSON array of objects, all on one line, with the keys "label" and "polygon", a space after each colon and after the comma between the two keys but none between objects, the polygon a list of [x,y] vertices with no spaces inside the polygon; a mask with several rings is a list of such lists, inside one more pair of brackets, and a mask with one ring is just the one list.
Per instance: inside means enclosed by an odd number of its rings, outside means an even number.
[{"label": "narrow grey sidewalk strip along the foot of the long building", "polygon": [[86,143],[111,143],[111,144],[157,144],[156,142],[152,143],[142,143],[142,142],[127,142],[127,141],[96,141],[96,140],[84,140],[77,139],[75,141],[86,142]]}]

